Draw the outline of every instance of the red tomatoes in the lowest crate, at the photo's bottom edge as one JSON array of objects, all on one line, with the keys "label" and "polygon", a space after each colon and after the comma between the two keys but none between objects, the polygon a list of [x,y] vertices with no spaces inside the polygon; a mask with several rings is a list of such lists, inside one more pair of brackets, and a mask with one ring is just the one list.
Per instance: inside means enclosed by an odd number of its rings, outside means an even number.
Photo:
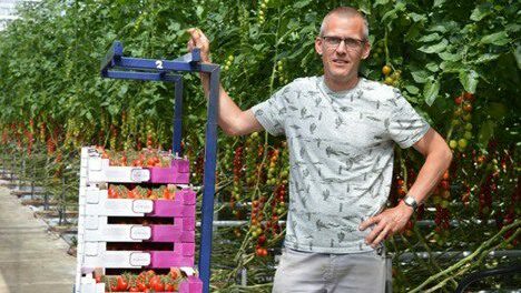
[{"label": "red tomatoes in the lowest crate, at the photo's bottom edge", "polygon": [[154,270],[139,274],[95,275],[97,283],[106,284],[106,292],[176,292],[186,276],[177,267],[167,274],[157,274]]}]

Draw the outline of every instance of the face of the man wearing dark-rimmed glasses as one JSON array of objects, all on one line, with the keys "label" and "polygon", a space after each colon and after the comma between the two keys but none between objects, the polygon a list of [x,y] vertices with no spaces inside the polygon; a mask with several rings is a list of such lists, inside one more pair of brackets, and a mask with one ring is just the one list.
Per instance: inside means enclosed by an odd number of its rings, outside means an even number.
[{"label": "face of the man wearing dark-rimmed glasses", "polygon": [[366,59],[371,50],[364,40],[364,21],[358,17],[333,14],[324,24],[323,36],[315,40],[315,50],[324,63],[324,75],[336,83],[348,82],[357,77],[360,61]]}]

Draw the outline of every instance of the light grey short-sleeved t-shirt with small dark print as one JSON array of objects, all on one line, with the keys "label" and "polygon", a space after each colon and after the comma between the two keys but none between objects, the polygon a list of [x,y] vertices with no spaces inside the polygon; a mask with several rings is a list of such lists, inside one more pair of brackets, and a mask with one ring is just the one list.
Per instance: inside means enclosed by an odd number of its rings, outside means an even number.
[{"label": "light grey short-sleeved t-shirt with small dark print", "polygon": [[394,143],[409,148],[429,124],[397,89],[360,79],[333,92],[323,77],[296,79],[252,108],[289,148],[285,245],[320,253],[371,251],[362,221],[385,206]]}]

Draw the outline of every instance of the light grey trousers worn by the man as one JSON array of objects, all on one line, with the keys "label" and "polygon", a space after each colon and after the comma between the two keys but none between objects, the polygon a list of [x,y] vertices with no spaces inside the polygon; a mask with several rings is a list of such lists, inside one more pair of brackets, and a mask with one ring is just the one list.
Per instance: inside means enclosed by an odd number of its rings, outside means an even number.
[{"label": "light grey trousers worn by the man", "polygon": [[386,279],[383,251],[327,254],[283,249],[273,293],[384,293]]}]

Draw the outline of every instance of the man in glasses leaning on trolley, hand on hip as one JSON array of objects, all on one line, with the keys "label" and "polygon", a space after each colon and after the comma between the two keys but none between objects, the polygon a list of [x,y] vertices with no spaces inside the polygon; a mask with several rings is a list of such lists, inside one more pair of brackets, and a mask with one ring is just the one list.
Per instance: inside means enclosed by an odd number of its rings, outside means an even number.
[{"label": "man in glasses leaning on trolley, hand on hip", "polygon": [[[188,48],[209,62],[207,38],[189,32]],[[323,77],[297,79],[247,111],[220,88],[218,122],[227,134],[264,129],[287,138],[289,210],[274,292],[384,292],[382,242],[404,228],[452,160],[400,91],[358,77],[367,34],[358,11],[337,8],[315,40]],[[208,93],[208,77],[201,81]],[[385,209],[394,143],[426,160],[406,200]]]}]

